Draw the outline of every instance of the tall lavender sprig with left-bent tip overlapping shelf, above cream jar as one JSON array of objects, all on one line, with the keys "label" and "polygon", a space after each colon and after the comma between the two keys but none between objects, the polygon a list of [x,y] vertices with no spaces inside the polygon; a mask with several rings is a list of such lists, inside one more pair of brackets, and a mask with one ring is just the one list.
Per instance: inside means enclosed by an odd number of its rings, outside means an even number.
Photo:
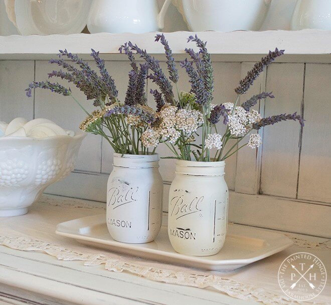
[{"label": "tall lavender sprig with left-bent tip overlapping shelf, above cream jar", "polygon": [[207,42],[204,42],[200,38],[198,38],[197,34],[195,35],[195,37],[189,36],[188,42],[189,41],[196,42],[197,46],[200,48],[200,54],[202,56],[202,74],[204,79],[204,85],[206,90],[209,92],[210,98],[212,99],[212,93],[214,91],[214,76],[212,59],[206,47]]}]

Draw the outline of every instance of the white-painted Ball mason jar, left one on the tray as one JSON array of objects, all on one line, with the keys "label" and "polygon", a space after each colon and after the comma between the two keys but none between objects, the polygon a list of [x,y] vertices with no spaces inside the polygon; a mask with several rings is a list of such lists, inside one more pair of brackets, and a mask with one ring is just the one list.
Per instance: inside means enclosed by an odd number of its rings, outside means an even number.
[{"label": "white-painted Ball mason jar, left one on the tray", "polygon": [[158,154],[113,154],[107,183],[107,227],[127,243],[154,240],[161,227],[163,182]]}]

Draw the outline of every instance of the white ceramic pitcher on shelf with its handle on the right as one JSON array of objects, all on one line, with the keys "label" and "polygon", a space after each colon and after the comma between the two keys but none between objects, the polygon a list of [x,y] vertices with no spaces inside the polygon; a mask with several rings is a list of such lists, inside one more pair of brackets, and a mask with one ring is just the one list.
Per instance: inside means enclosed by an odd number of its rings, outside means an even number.
[{"label": "white ceramic pitcher on shelf with its handle on the right", "polygon": [[164,27],[171,3],[165,0],[158,12],[157,0],[94,0],[87,27],[91,33],[143,33]]}]

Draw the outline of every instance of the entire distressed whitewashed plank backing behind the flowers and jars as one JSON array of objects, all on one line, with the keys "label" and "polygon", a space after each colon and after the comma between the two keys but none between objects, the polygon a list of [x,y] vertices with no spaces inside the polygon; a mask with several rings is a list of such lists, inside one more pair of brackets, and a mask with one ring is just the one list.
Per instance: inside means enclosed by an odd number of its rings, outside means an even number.
[{"label": "entire distressed whitewashed plank backing behind the flowers and jars", "polygon": [[[93,63],[91,63],[93,65]],[[214,103],[233,101],[234,88],[253,65],[252,62],[214,61]],[[161,62],[165,66],[164,62]],[[123,60],[107,60],[123,99],[129,65]],[[17,116],[46,117],[59,125],[78,129],[84,112],[70,97],[35,90],[32,98],[24,89],[32,80],[44,80],[52,65],[46,60],[0,60],[0,120]],[[180,71],[179,88],[188,90],[188,78]],[[256,80],[242,101],[263,90],[275,98],[255,107],[265,116],[297,111],[298,122],[281,122],[260,130],[263,145],[245,147],[226,161],[226,181],[231,192],[229,219],[234,222],[280,230],[327,236],[331,211],[331,64],[276,62]],[[153,84],[148,83],[148,88]],[[72,87],[73,94],[92,110],[90,101]],[[150,102],[152,102],[150,100]],[[224,129],[219,125],[219,131]],[[166,146],[157,152],[169,155]],[[51,185],[48,193],[105,201],[107,174],[112,169],[112,151],[100,136],[89,134],[79,152],[76,169],[69,177]],[[168,210],[168,190],[174,178],[175,160],[162,159],[164,210]]]}]

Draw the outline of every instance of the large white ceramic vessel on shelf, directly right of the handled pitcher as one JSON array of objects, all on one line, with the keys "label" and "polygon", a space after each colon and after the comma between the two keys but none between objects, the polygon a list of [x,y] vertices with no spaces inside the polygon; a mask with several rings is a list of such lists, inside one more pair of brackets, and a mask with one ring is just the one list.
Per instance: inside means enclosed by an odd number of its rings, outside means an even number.
[{"label": "large white ceramic vessel on shelf, directly right of the handled pitcher", "polygon": [[176,0],[190,30],[260,29],[271,0]]}]

